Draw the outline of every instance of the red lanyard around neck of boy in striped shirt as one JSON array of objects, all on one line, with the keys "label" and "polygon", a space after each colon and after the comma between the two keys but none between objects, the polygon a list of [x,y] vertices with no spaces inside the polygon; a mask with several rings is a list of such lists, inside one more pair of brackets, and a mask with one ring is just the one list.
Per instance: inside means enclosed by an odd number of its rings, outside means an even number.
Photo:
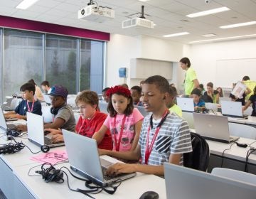
[{"label": "red lanyard around neck of boy in striped shirt", "polygon": [[150,125],[149,125],[149,129],[147,131],[147,136],[146,136],[146,151],[145,151],[145,162],[144,162],[145,164],[147,164],[148,161],[149,161],[149,156],[151,154],[151,151],[152,151],[153,146],[154,146],[154,142],[156,141],[156,137],[157,137],[157,135],[159,133],[159,130],[161,128],[161,124],[164,123],[164,120],[166,119],[168,114],[169,114],[169,109],[166,109],[166,111],[164,112],[164,114],[163,114],[163,116],[161,118],[161,121],[159,122],[159,124],[156,127],[156,131],[155,131],[154,136],[152,138],[152,141],[151,141],[151,143],[149,145],[149,131],[150,131],[150,127],[153,126],[153,124],[152,124],[153,123],[152,122],[153,115],[151,115],[151,117],[150,117]]}]

